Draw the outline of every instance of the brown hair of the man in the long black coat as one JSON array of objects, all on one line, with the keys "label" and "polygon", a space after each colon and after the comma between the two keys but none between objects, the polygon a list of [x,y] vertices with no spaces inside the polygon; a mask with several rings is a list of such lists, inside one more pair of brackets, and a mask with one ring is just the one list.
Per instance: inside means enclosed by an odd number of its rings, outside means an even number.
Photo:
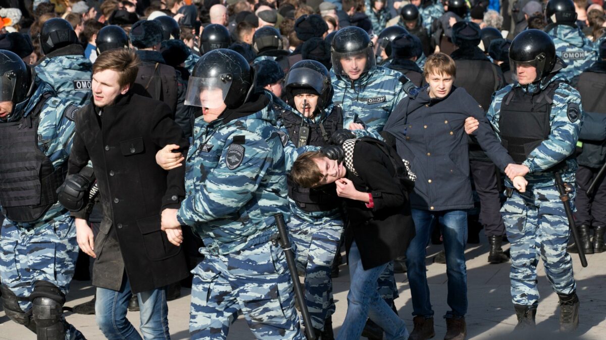
[{"label": "brown hair of the man in the long black coat", "polygon": [[99,54],[93,64],[93,75],[99,71],[114,70],[118,72],[120,87],[135,82],[139,72],[139,57],[135,51],[127,48],[116,48]]}]

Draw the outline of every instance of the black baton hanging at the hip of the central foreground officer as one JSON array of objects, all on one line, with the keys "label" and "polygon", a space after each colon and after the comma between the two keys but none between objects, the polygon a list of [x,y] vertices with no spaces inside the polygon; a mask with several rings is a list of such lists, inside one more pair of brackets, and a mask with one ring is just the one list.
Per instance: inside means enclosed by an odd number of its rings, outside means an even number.
[{"label": "black baton hanging at the hip of the central foreground officer", "polygon": [[305,335],[307,336],[308,340],[315,340],[316,335],[313,332],[313,325],[311,325],[311,317],[309,316],[307,304],[305,303],[305,296],[303,295],[303,290],[301,289],[301,281],[299,281],[299,275],[297,275],[295,253],[293,253],[293,249],[290,246],[290,241],[288,241],[288,232],[286,231],[284,216],[282,216],[282,214],[276,214],[273,215],[273,217],[276,218],[276,224],[278,225],[278,234],[280,235],[278,241],[280,243],[280,247],[282,247],[282,250],[284,250],[284,255],[286,256],[286,263],[288,263],[288,270],[290,270],[290,278],[293,280],[293,289],[295,289],[295,297],[299,307],[301,307],[301,315],[303,316],[303,322],[305,323]]}]

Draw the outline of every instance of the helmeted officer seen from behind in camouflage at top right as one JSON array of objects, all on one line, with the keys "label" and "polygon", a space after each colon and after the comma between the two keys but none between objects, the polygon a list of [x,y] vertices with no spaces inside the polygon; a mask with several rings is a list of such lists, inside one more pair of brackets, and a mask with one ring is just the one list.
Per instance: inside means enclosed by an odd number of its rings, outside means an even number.
[{"label": "helmeted officer seen from behind in camouflage at top right", "polygon": [[[568,65],[562,73],[568,79],[573,79],[598,60],[593,43],[576,26],[572,0],[550,0],[545,8],[545,16],[549,24],[544,31],[553,38],[558,57]],[[555,18],[555,22],[552,18]]]}]

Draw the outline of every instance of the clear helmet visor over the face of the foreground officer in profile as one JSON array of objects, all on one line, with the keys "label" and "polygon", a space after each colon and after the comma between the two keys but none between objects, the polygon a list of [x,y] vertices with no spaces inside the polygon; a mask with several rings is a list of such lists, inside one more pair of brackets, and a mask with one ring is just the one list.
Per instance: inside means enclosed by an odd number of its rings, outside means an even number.
[{"label": "clear helmet visor over the face of the foreground officer in profile", "polygon": [[202,108],[219,108],[225,104],[225,97],[231,87],[231,74],[221,74],[218,77],[190,77],[185,94],[185,105]]}]

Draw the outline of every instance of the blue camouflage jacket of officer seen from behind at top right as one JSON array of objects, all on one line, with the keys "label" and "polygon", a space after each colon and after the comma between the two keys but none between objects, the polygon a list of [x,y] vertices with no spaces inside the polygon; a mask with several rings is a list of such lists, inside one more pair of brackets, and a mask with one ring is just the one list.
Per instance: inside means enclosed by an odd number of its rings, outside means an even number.
[{"label": "blue camouflage jacket of officer seen from behind at top right", "polygon": [[553,38],[556,54],[568,64],[560,71],[567,79],[579,76],[585,69],[598,61],[598,52],[578,27],[550,25],[545,32]]}]

